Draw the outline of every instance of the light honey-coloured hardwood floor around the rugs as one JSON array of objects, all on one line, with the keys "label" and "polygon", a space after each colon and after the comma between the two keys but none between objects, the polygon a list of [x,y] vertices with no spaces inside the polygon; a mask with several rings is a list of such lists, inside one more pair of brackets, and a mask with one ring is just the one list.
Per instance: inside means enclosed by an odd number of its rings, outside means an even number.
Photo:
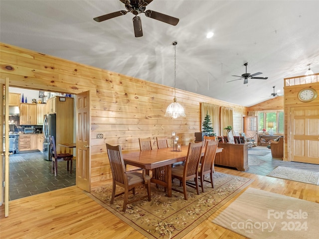
[{"label": "light honey-coloured hardwood floor around the rugs", "polygon": [[[215,167],[215,170],[254,179],[255,181],[249,187],[319,203],[319,186],[316,185],[226,168]],[[221,209],[227,207],[235,198]],[[13,200],[9,202],[9,207],[9,217],[7,218],[4,218],[4,206],[0,207],[0,238],[3,239],[145,238],[86,196],[76,186]],[[212,217],[209,217],[188,233],[184,239],[244,238],[211,223],[211,221]]]}]

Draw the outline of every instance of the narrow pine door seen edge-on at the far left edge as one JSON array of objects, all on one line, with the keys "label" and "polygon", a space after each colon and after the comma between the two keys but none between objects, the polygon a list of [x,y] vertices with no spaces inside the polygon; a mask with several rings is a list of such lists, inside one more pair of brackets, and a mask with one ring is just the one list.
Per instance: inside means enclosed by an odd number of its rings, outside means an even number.
[{"label": "narrow pine door seen edge-on at the far left edge", "polygon": [[[0,93],[0,119],[4,119],[4,132],[3,126],[0,129],[0,135],[4,135],[4,147],[3,150],[3,137],[0,139],[0,179],[1,184],[3,182],[4,187],[0,186],[0,205],[4,204],[4,217],[9,216],[9,115],[5,114],[9,112],[9,78],[6,77],[5,80],[1,80],[1,93]],[[4,167],[3,167],[4,166]],[[3,190],[4,189],[4,190]]]}]

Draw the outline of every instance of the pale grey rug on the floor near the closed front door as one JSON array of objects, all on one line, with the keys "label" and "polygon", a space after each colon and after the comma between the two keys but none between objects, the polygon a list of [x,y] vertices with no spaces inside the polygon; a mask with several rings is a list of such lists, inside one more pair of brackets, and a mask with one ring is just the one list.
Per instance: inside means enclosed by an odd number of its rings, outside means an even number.
[{"label": "pale grey rug on the floor near the closed front door", "polygon": [[319,172],[278,166],[267,176],[319,185]]}]

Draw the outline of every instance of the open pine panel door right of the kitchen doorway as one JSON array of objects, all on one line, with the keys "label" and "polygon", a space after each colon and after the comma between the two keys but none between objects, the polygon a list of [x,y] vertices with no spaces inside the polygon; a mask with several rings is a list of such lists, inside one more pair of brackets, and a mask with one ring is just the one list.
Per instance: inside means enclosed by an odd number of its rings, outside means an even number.
[{"label": "open pine panel door right of the kitchen doorway", "polygon": [[91,191],[91,94],[76,95],[76,186]]}]

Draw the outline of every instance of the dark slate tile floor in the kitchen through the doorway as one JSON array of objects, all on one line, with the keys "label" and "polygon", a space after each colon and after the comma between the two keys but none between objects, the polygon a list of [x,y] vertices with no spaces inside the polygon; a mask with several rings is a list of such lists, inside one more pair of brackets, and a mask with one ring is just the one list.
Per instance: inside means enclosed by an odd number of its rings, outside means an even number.
[{"label": "dark slate tile floor in the kitchen through the doorway", "polygon": [[51,173],[51,161],[41,152],[12,154],[9,157],[9,200],[75,185],[75,161],[72,174],[66,162],[58,162],[58,174]]}]

